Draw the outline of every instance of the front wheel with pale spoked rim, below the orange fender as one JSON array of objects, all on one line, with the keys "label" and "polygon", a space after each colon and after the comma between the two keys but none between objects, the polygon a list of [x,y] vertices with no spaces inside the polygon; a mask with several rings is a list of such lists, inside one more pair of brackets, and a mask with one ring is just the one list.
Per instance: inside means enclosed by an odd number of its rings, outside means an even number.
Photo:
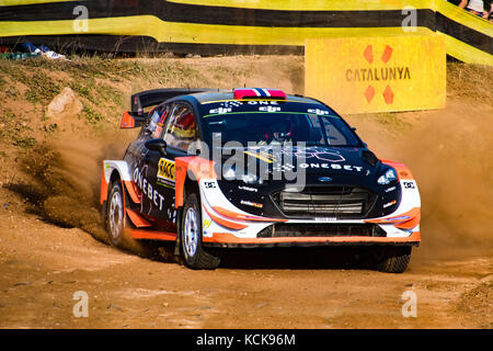
[{"label": "front wheel with pale spoked rim, below the orange fender", "polygon": [[200,202],[195,193],[186,199],[180,231],[182,251],[187,267],[211,270],[219,265],[219,254],[207,251],[202,246]]}]

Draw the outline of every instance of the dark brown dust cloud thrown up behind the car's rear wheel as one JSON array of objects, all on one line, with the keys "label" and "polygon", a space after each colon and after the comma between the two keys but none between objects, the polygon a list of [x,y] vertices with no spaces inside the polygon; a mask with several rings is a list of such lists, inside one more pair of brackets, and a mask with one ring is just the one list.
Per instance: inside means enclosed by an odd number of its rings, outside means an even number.
[{"label": "dark brown dust cloud thrown up behind the car's rear wheel", "polygon": [[102,162],[122,159],[129,139],[128,133],[98,138],[61,133],[20,156],[28,181],[9,188],[30,200],[27,211],[43,220],[106,241],[99,204]]}]

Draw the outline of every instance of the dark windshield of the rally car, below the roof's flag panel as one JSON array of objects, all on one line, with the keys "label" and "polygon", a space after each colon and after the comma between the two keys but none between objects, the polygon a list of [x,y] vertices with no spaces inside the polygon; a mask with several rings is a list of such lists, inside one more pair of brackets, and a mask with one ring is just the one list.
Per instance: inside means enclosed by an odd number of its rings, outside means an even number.
[{"label": "dark windshield of the rally car, below the roof's flag panel", "polygon": [[320,104],[280,101],[204,103],[203,118],[206,133],[222,144],[359,146],[347,125]]}]

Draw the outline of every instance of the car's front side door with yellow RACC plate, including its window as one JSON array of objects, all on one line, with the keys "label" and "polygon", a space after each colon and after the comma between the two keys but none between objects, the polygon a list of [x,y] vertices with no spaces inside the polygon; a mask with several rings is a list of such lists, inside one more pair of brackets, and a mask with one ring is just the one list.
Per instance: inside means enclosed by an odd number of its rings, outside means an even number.
[{"label": "car's front side door with yellow RACC plate, including its window", "polygon": [[187,156],[188,146],[196,140],[197,124],[193,109],[186,102],[175,102],[169,110],[161,135],[167,143],[164,154],[148,150],[148,174],[152,195],[148,196],[151,215],[175,226],[175,162],[176,157]]}]

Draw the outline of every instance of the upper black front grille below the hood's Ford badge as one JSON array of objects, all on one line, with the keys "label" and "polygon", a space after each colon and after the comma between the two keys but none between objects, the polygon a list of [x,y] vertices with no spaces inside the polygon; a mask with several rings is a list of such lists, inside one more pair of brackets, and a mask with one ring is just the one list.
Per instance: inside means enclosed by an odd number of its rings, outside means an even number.
[{"label": "upper black front grille below the hood's Ford badge", "polygon": [[355,186],[306,186],[301,192],[280,191],[272,197],[291,218],[362,217],[377,200],[374,193]]}]

